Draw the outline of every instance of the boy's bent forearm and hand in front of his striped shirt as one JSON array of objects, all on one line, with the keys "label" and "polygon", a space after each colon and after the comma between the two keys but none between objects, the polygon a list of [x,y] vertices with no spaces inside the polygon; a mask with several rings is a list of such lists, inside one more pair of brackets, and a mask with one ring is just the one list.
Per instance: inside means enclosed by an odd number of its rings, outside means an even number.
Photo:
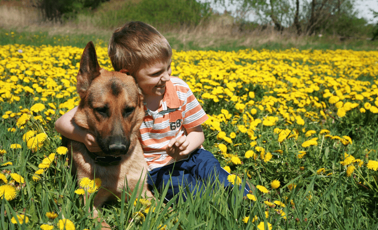
[{"label": "boy's bent forearm and hand in front of his striped shirt", "polygon": [[205,135],[201,125],[186,129],[186,137],[172,138],[168,143],[166,152],[176,161],[186,158],[188,154],[198,149],[205,141]]}]

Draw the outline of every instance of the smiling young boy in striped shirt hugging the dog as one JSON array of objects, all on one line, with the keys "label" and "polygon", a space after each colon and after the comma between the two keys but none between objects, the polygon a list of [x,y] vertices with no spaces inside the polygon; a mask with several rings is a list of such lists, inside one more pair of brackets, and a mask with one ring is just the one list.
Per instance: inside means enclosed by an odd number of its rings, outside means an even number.
[{"label": "smiling young boy in striped shirt hugging the dog", "polygon": [[[144,94],[146,116],[140,141],[148,164],[148,184],[159,191],[169,186],[168,200],[179,192],[180,185],[196,193],[196,184],[201,187],[215,176],[229,186],[229,173],[202,148],[205,137],[201,124],[208,119],[205,111],[188,85],[170,76],[172,49],[168,41],[152,26],[130,22],[115,30],[108,54],[114,70],[133,76]],[[60,117],[56,130],[83,142],[90,152],[101,151],[94,135],[72,121],[76,110]],[[172,180],[167,184],[169,178]],[[248,191],[246,185],[244,196]]]}]

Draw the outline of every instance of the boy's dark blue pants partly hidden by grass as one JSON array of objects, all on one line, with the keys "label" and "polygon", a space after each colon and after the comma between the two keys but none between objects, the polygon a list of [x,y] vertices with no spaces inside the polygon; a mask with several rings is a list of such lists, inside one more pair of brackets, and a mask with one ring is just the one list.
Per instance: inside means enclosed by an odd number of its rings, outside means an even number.
[{"label": "boy's dark blue pants partly hidden by grass", "polygon": [[[201,188],[208,182],[213,183],[215,177],[218,177],[225,188],[230,187],[232,184],[227,180],[228,175],[230,174],[220,166],[212,153],[198,149],[186,160],[149,171],[147,183],[155,185],[159,192],[162,192],[163,187],[169,186],[165,199],[170,200],[179,193],[179,186],[187,185],[190,191],[196,194],[196,184],[197,188]],[[172,180],[169,180],[170,178]],[[248,191],[249,187],[245,185],[244,196]],[[186,200],[186,197],[183,196],[183,199]]]}]

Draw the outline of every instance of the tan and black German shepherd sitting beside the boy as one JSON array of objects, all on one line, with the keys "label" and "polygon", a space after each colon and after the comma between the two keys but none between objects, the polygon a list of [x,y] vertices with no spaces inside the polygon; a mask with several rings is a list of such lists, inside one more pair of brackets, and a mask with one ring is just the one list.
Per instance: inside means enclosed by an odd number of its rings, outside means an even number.
[{"label": "tan and black German shepherd sitting beside the boy", "polygon": [[91,153],[83,143],[67,138],[62,143],[69,149],[69,162],[78,182],[84,177],[102,180],[93,202],[94,217],[97,207],[114,195],[120,197],[127,187],[142,189],[142,195],[152,197],[144,182],[147,162],[139,142],[145,114],[143,94],[134,78],[100,68],[94,45],[89,42],[80,60],[77,91],[81,101],[74,122],[96,136],[102,152]]}]

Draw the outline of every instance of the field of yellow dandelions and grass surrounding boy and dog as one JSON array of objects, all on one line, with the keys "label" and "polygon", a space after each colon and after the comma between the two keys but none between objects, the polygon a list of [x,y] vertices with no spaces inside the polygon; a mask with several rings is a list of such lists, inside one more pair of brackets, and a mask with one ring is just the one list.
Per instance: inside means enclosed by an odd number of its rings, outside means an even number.
[{"label": "field of yellow dandelions and grass surrounding boy and dog", "polygon": [[[107,49],[96,51],[100,66],[112,70]],[[101,227],[82,200],[93,199],[101,182],[76,185],[54,130],[56,119],[79,103],[82,52],[0,46],[2,229]],[[235,188],[212,195],[208,189],[168,204],[134,192],[134,203],[104,207],[110,225],[377,229],[377,51],[174,51],[172,75],[187,82],[209,116],[204,148],[230,181],[248,179],[256,190],[242,197]]]}]

